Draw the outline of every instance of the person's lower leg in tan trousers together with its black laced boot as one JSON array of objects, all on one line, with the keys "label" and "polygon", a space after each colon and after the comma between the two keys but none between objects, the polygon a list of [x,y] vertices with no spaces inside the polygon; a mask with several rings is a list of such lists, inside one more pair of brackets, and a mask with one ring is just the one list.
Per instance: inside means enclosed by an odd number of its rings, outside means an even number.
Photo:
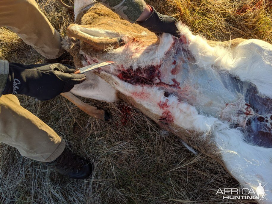
[{"label": "person's lower leg in tan trousers together with its black laced boot", "polygon": [[0,98],[0,142],[67,177],[84,179],[92,174],[89,161],[65,149],[64,139],[20,106],[17,97],[11,94]]}]

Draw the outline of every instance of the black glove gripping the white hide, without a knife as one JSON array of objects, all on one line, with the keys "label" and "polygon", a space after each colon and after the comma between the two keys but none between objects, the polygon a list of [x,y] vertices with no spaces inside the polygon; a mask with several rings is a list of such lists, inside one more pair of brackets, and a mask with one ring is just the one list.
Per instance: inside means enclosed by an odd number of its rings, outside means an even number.
[{"label": "black glove gripping the white hide, without a knife", "polygon": [[152,7],[152,9],[153,12],[150,17],[145,21],[138,22],[139,25],[156,34],[170,33],[175,37],[180,37],[180,32],[176,26],[177,19],[172,16],[160,14],[154,9],[154,7]]}]

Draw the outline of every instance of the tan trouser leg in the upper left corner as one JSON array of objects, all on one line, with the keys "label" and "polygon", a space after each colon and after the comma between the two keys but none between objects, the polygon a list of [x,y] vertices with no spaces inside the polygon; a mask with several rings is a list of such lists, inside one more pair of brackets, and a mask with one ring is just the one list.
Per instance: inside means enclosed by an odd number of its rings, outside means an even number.
[{"label": "tan trouser leg in the upper left corner", "polygon": [[0,27],[6,26],[47,59],[61,56],[61,37],[34,0],[0,0]]}]

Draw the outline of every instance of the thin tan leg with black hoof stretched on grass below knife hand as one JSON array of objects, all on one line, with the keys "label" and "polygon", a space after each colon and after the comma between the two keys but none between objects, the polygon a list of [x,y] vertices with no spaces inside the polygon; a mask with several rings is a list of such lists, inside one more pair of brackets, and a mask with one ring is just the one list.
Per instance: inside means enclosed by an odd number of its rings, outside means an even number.
[{"label": "thin tan leg with black hoof stretched on grass below knife hand", "polygon": [[67,98],[69,101],[71,101],[73,104],[75,104],[78,108],[80,108],[82,111],[84,111],[88,115],[98,118],[100,120],[107,120],[111,122],[111,118],[108,112],[104,110],[99,110],[95,106],[91,106],[87,103],[84,103],[83,101],[78,99],[75,95],[73,95],[71,92],[61,93],[60,95]]}]

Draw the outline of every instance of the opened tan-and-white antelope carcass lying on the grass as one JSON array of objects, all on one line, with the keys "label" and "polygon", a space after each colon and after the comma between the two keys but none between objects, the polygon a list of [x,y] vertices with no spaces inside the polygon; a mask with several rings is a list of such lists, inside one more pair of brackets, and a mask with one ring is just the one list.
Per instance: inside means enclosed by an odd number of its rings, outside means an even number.
[{"label": "opened tan-and-white antelope carcass lying on the grass", "polygon": [[272,45],[207,41],[182,23],[180,38],[156,37],[93,0],[75,1],[75,16],[63,45],[76,67],[117,63],[87,73],[73,94],[126,101],[216,159],[249,195],[268,182],[266,200],[254,199],[272,202]]}]

